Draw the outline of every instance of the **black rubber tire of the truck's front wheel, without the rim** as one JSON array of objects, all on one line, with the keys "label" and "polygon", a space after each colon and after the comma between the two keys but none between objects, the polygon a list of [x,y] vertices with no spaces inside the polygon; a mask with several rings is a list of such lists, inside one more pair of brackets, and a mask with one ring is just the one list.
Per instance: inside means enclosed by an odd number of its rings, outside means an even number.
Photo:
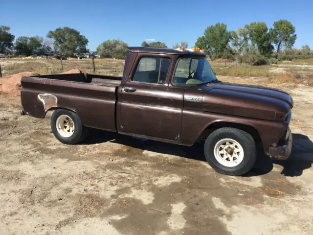
[{"label": "black rubber tire of the truck's front wheel, without the rim", "polygon": [[[240,164],[232,167],[225,166],[216,159],[214,155],[214,147],[219,141],[223,139],[232,139],[241,145],[244,151],[244,157]],[[250,134],[240,129],[223,127],[213,131],[207,137],[204,143],[204,156],[206,161],[217,172],[226,175],[239,176],[245,174],[253,167],[257,158],[257,150],[255,141]]]}]

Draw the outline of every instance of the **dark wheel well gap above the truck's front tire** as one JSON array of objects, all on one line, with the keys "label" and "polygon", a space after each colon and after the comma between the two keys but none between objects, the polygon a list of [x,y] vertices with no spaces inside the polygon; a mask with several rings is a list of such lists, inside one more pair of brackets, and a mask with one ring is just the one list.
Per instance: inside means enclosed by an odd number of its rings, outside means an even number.
[{"label": "dark wheel well gap above the truck's front tire", "polygon": [[201,133],[199,140],[205,140],[213,131],[222,128],[222,127],[232,127],[232,128],[237,128],[240,130],[243,130],[247,133],[249,133],[256,144],[262,144],[262,139],[259,134],[259,132],[253,127],[241,123],[233,123],[233,122],[215,122],[209,125],[208,127],[205,128],[205,130]]}]

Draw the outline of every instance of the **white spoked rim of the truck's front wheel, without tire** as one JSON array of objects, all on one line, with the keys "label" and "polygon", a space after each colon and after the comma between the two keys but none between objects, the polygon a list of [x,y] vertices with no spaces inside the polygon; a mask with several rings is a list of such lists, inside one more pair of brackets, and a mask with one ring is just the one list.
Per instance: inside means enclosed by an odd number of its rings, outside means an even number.
[{"label": "white spoked rim of the truck's front wheel, without tire", "polygon": [[234,167],[244,159],[244,149],[233,139],[223,139],[214,146],[214,157],[222,165]]}]

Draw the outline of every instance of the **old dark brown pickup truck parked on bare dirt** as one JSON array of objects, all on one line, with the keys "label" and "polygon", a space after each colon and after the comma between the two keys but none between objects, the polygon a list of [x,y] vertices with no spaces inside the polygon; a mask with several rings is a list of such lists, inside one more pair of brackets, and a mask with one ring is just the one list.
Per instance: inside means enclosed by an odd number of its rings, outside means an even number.
[{"label": "old dark brown pickup truck parked on bare dirt", "polygon": [[293,100],[283,91],[219,81],[205,53],[129,47],[122,77],[56,74],[22,77],[22,113],[45,118],[66,144],[88,127],[185,146],[205,140],[218,172],[242,175],[257,145],[273,159],[291,154]]}]

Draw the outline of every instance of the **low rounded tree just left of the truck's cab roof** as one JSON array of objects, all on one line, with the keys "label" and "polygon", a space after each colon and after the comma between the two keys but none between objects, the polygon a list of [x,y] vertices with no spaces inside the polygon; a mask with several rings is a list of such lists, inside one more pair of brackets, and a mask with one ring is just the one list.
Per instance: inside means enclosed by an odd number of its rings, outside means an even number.
[{"label": "low rounded tree just left of the truck's cab roof", "polygon": [[97,47],[97,54],[102,57],[125,59],[128,44],[120,39],[107,40]]}]

